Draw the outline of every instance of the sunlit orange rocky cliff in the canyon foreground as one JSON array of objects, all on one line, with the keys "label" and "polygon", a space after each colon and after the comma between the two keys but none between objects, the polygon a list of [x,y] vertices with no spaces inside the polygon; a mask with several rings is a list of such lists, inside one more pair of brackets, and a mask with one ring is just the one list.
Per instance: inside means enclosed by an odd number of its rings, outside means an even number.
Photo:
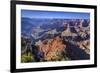
[{"label": "sunlit orange rocky cliff in the canyon foreground", "polygon": [[43,43],[39,46],[39,50],[44,53],[44,60],[46,61],[56,61],[62,60],[62,56],[65,51],[66,45],[63,44],[61,38],[55,37]]}]

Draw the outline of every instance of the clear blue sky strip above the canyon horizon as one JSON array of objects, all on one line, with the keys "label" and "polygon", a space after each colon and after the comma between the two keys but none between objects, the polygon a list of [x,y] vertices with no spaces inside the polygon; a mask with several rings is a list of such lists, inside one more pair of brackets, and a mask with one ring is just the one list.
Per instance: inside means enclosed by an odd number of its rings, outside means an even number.
[{"label": "clear blue sky strip above the canyon horizon", "polygon": [[28,18],[60,18],[60,19],[90,19],[90,13],[56,12],[39,10],[21,10],[21,17]]}]

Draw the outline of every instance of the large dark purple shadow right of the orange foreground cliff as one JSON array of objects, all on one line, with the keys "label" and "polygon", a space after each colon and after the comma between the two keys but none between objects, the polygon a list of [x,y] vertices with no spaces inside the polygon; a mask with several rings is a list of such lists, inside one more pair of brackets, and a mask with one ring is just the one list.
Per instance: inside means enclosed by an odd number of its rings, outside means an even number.
[{"label": "large dark purple shadow right of the orange foreground cliff", "polygon": [[87,60],[90,59],[90,55],[87,54],[84,50],[79,48],[76,45],[71,43],[66,43],[67,48],[65,49],[67,52],[67,56],[71,58],[71,60]]}]

